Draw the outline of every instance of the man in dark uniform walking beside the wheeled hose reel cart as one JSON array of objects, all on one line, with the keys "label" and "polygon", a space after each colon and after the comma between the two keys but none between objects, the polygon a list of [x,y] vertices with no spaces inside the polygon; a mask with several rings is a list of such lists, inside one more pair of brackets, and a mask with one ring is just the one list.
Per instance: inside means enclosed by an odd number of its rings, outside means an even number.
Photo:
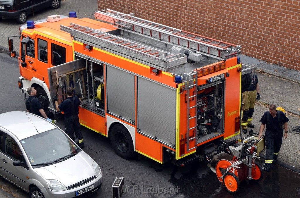
[{"label": "man in dark uniform walking beside the wheeled hose reel cart", "polygon": [[[265,164],[264,170],[271,171],[272,163],[276,163],[279,150],[282,144],[282,138],[287,137],[287,122],[289,119],[279,110],[276,110],[276,105],[270,105],[269,111],[266,111],[259,122],[261,122],[258,139],[262,138],[262,132],[265,130]],[[284,131],[282,129],[284,127]]]}]

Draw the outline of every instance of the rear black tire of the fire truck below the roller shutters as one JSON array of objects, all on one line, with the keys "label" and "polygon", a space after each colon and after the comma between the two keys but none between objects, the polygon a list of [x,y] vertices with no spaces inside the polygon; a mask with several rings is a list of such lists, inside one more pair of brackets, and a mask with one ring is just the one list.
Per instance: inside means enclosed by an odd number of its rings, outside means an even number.
[{"label": "rear black tire of the fire truck below the roller shutters", "polygon": [[124,159],[132,159],[135,155],[133,141],[128,130],[121,124],[111,129],[110,141],[116,153]]}]

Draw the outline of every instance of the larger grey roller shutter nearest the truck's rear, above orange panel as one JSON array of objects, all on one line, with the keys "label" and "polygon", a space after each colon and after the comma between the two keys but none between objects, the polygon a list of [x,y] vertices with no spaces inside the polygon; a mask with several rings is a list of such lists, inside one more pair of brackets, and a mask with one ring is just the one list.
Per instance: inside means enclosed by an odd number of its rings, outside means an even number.
[{"label": "larger grey roller shutter nearest the truck's rear, above orange panel", "polygon": [[138,129],[168,145],[176,141],[176,90],[138,78]]}]

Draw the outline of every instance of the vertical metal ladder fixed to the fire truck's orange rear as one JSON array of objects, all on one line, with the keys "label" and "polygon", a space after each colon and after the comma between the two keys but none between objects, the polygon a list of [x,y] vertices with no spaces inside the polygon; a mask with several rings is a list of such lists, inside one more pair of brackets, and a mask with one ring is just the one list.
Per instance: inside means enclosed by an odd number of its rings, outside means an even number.
[{"label": "vertical metal ladder fixed to the fire truck's orange rear", "polygon": [[[185,134],[187,151],[195,149],[197,147],[197,72],[184,73],[184,90],[186,93],[187,102],[187,132]],[[193,94],[190,96],[190,90],[193,90]],[[192,135],[190,136],[190,134]],[[190,148],[190,142],[193,141],[193,145]]]}]

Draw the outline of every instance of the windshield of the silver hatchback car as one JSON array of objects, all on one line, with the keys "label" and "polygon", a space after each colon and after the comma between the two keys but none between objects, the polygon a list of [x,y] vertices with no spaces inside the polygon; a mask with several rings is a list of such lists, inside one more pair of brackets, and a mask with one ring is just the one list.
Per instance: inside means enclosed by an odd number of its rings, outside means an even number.
[{"label": "windshield of the silver hatchback car", "polygon": [[63,161],[80,152],[59,129],[39,133],[20,141],[32,166],[46,166]]}]

